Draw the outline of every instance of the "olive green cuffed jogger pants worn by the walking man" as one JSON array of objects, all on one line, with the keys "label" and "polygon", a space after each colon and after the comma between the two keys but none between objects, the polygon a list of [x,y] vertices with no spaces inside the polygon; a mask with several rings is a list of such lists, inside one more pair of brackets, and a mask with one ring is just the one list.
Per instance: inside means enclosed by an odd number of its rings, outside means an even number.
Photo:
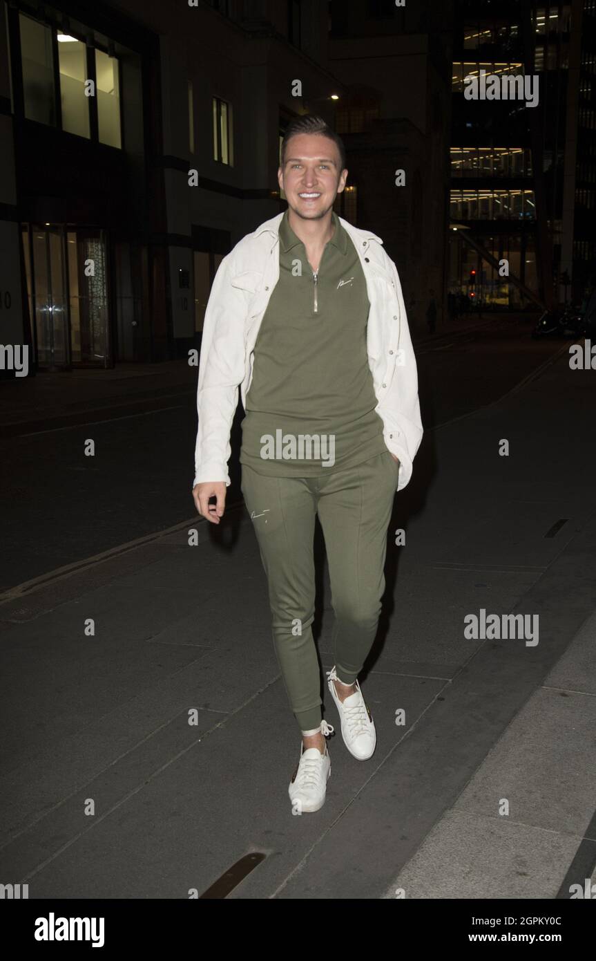
[{"label": "olive green cuffed jogger pants worn by the walking man", "polygon": [[242,465],[241,489],[269,585],[274,649],[302,733],[321,727],[315,617],[315,515],[327,554],[338,678],[353,684],[370,652],[385,590],[387,529],[399,464],[389,451],[316,478]]}]

